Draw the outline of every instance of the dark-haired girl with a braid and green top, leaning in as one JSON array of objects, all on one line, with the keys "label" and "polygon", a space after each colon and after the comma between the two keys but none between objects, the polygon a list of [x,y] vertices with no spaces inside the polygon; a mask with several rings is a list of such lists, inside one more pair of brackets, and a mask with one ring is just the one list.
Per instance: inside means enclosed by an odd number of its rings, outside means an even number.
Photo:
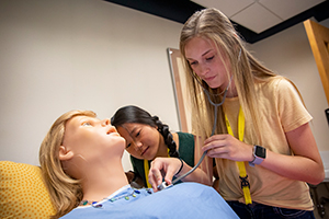
[{"label": "dark-haired girl with a braid and green top, leaning in", "polygon": [[[140,177],[143,181],[140,186],[151,187],[148,171],[155,158],[180,158],[188,166],[194,166],[195,137],[186,132],[170,132],[168,125],[162,124],[158,116],[151,116],[138,106],[128,105],[115,112],[111,124],[126,139],[126,150],[131,153],[135,178]],[[189,181],[189,177],[184,180]],[[205,176],[200,183],[211,185],[211,180]]]}]

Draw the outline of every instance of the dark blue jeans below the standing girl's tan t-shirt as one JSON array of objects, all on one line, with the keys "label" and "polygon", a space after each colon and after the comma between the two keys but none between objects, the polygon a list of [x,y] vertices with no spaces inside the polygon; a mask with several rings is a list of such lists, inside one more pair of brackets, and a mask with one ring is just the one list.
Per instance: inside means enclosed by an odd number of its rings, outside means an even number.
[{"label": "dark blue jeans below the standing girl's tan t-shirt", "polygon": [[294,219],[315,219],[310,210],[297,210],[279,208],[258,203],[245,205],[239,201],[227,201],[241,219],[269,219],[269,218],[294,218]]}]

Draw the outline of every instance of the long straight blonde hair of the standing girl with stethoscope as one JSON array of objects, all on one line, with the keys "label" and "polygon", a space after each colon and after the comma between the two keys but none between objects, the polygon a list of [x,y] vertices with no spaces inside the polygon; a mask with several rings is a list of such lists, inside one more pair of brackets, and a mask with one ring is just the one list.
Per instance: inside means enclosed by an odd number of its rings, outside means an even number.
[{"label": "long straight blonde hair of the standing girl with stethoscope", "polygon": [[[180,51],[182,54],[183,66],[185,69],[188,92],[192,107],[192,128],[196,135],[207,138],[212,134],[214,123],[214,106],[207,101],[202,87],[196,81],[197,76],[193,72],[185,57],[185,46],[190,39],[201,37],[211,41],[217,47],[217,55],[220,57],[227,72],[227,79],[235,82],[239,102],[242,107],[246,126],[252,124],[250,128],[251,141],[249,143],[261,143],[260,120],[257,108],[257,83],[265,82],[275,77],[271,70],[260,64],[245,48],[243,41],[229,19],[216,9],[204,9],[195,12],[183,25],[180,37]],[[225,61],[228,60],[228,61]],[[192,76],[192,77],[191,77]],[[219,93],[217,89],[212,89],[201,81],[203,88],[209,93]],[[213,95],[213,102],[219,103],[222,95]],[[223,106],[218,107],[215,134],[227,134]]]}]

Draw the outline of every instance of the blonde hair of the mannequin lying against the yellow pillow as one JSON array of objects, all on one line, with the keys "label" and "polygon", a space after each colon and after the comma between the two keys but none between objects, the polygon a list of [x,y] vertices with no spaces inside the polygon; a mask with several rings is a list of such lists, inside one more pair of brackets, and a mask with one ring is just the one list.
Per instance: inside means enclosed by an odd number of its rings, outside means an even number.
[{"label": "blonde hair of the mannequin lying against the yellow pillow", "polygon": [[82,189],[78,180],[65,173],[59,160],[59,147],[63,143],[65,125],[76,116],[95,117],[91,111],[70,111],[63,114],[53,124],[39,148],[39,163],[43,177],[59,218],[79,205],[82,199]]}]

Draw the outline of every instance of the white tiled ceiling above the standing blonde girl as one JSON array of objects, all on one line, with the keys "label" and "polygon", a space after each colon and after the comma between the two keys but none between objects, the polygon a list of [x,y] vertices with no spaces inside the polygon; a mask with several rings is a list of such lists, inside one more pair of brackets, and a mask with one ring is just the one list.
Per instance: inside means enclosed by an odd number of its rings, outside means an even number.
[{"label": "white tiled ceiling above the standing blonde girl", "polygon": [[[191,0],[204,8],[216,8],[231,21],[261,33],[325,0]],[[329,9],[328,9],[329,10]]]}]

